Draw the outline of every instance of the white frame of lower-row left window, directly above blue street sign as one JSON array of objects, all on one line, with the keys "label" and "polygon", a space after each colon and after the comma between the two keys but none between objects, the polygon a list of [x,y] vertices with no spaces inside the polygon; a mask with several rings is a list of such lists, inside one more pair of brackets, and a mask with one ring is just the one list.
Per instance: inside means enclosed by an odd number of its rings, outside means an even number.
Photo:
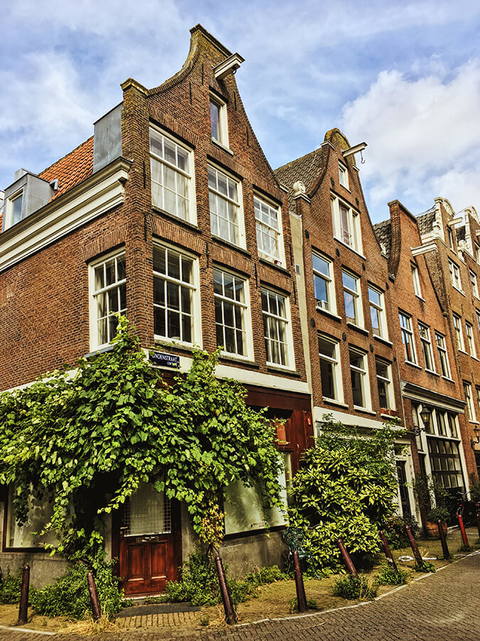
[{"label": "white frame of lower-row left window, directly above blue street sign", "polygon": [[[161,334],[155,334],[155,333],[154,333],[154,338],[155,340],[160,340],[162,343],[175,343],[176,345],[187,345],[188,347],[191,347],[191,345],[199,345],[201,347],[202,346],[202,321],[201,321],[201,302],[200,302],[200,266],[199,266],[198,256],[196,256],[195,254],[191,254],[191,252],[188,252],[183,248],[181,249],[175,245],[164,243],[163,241],[160,242],[155,240],[154,246],[157,247],[158,249],[166,250],[166,256],[167,256],[166,260],[168,260],[168,252],[171,251],[171,252],[174,252],[175,254],[179,254],[180,256],[184,256],[188,260],[192,261],[192,278],[193,278],[193,283],[187,283],[186,281],[183,281],[181,279],[178,280],[173,276],[169,276],[168,266],[166,267],[166,271],[167,271],[166,274],[153,270],[153,278],[161,278],[166,282],[175,283],[176,285],[181,287],[183,286],[191,291],[191,318],[192,318],[191,342],[180,340],[178,338],[170,338],[169,336],[162,336]],[[152,281],[153,281],[153,278],[152,278]],[[158,307],[160,308],[161,306],[158,306]],[[165,309],[166,311],[168,311],[166,297],[165,297]],[[167,326],[168,326],[168,323],[166,322],[165,327]]]}]

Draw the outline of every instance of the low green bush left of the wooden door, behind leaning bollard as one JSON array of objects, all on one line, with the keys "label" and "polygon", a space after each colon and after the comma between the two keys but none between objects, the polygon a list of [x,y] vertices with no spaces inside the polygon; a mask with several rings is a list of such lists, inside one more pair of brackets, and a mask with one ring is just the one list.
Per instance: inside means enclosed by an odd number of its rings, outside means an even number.
[{"label": "low green bush left of the wooden door, behind leaning bollard", "polygon": [[[113,575],[113,567],[114,561],[105,561],[105,553],[98,553],[92,561],[100,608],[107,617],[122,609],[123,591],[119,590],[119,580]],[[32,608],[48,617],[81,619],[85,612],[91,611],[87,571],[88,568],[80,563],[70,566],[53,585],[46,585],[31,593]]]}]

